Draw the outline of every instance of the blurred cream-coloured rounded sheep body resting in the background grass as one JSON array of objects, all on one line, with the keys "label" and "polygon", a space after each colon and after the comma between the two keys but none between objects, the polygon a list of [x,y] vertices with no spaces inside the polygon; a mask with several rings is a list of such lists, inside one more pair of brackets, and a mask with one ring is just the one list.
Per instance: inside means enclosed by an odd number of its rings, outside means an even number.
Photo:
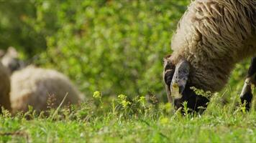
[{"label": "blurred cream-coloured rounded sheep body resting in the background grass", "polygon": [[15,71],[11,77],[12,112],[27,111],[28,105],[37,111],[47,109],[49,95],[53,95],[58,107],[65,94],[64,104],[78,104],[83,97],[68,77],[52,69],[40,69],[34,66]]}]

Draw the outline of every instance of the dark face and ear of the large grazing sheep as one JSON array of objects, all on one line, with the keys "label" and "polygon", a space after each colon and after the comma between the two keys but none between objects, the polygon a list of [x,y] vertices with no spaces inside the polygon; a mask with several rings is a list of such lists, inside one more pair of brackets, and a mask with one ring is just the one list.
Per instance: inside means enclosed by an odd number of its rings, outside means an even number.
[{"label": "dark face and ear of the large grazing sheep", "polygon": [[[190,64],[185,59],[181,59],[177,64],[173,64],[171,56],[164,58],[163,79],[168,101],[173,103],[175,109],[183,108],[183,102],[187,102],[187,107],[193,111],[204,111],[209,99],[197,95],[188,82]],[[204,107],[198,109],[198,107]]]}]

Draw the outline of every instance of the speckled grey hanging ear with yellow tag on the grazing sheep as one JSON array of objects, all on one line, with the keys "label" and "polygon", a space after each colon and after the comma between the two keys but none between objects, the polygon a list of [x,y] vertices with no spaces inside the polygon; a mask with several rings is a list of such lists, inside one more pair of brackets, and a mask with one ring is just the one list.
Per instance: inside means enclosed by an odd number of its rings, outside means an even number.
[{"label": "speckled grey hanging ear with yellow tag on the grazing sheep", "polygon": [[180,60],[176,65],[175,72],[173,74],[173,80],[170,84],[170,91],[173,92],[173,88],[178,86],[179,94],[182,94],[189,75],[190,65],[185,59]]}]

